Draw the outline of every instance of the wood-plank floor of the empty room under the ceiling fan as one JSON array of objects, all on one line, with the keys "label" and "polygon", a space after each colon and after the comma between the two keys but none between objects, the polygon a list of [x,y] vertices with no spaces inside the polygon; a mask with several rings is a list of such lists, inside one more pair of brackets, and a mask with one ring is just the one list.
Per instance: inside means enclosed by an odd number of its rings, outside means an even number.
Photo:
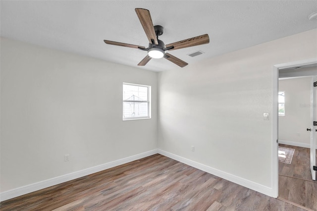
[{"label": "wood-plank floor of the empty room under the ceiling fan", "polygon": [[154,155],[0,203],[1,211],[303,211]]}]

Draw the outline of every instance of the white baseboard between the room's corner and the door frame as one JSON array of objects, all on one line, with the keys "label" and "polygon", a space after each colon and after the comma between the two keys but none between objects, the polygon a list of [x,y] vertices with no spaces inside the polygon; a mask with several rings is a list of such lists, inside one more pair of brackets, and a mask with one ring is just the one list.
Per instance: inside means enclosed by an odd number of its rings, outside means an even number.
[{"label": "white baseboard between the room's corner and the door frame", "polygon": [[202,163],[199,163],[199,162],[187,159],[187,158],[183,158],[183,157],[168,153],[168,152],[163,151],[163,150],[158,150],[158,153],[163,155],[163,156],[166,156],[168,158],[172,158],[172,159],[175,159],[175,160],[180,161],[182,163],[185,163],[187,165],[190,165],[192,167],[198,168],[198,169],[200,169],[202,171],[205,171],[205,172],[208,172],[210,174],[213,174],[215,176],[218,176],[218,177],[221,177],[223,179],[226,179],[226,180],[228,180],[230,182],[234,182],[234,183],[236,183],[238,185],[242,185],[242,186],[247,187],[249,189],[252,189],[254,191],[257,191],[257,192],[263,193],[263,194],[265,194],[267,196],[273,197],[273,190],[270,187],[266,187],[264,185],[249,181],[247,179],[235,176],[233,174],[226,173],[224,171],[220,171],[220,170],[212,168],[212,167],[210,167],[208,165],[204,165]]}]

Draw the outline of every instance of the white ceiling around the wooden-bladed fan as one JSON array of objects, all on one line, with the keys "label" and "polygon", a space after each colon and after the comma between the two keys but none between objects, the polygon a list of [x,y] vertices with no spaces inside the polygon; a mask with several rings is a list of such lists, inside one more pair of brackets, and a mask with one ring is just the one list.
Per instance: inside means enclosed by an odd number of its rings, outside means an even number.
[{"label": "white ceiling around the wooden-bladed fan", "polygon": [[[0,35],[142,69],[180,68],[164,58],[139,67],[147,52],[104,43],[148,46],[135,8],[150,10],[154,25],[164,27],[159,39],[165,44],[209,34],[209,44],[169,52],[189,65],[317,28],[308,19],[317,0],[1,0]],[[198,50],[204,54],[188,55]]]}]

